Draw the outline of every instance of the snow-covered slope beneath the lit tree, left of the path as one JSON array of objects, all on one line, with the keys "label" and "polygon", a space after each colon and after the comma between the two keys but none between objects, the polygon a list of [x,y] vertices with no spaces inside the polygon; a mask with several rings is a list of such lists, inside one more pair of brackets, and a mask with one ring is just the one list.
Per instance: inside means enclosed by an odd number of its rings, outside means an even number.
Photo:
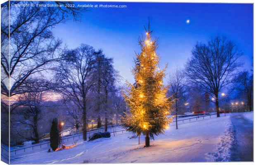
[{"label": "snow-covered slope beneath the lit tree, left of the path", "polygon": [[205,120],[180,123],[175,130],[172,124],[165,134],[150,139],[150,147],[144,147],[145,137],[129,139],[126,132],[115,137],[78,142],[74,148],[47,153],[47,149],[13,156],[11,164],[47,163],[164,163],[228,161],[234,140],[231,115],[221,114]]}]

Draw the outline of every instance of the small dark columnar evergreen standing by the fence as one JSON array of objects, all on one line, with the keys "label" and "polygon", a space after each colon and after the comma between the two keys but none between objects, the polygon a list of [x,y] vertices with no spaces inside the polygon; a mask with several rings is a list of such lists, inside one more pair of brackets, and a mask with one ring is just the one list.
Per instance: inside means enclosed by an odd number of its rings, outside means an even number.
[{"label": "small dark columnar evergreen standing by the fence", "polygon": [[52,120],[52,127],[50,132],[50,146],[53,151],[55,151],[59,146],[59,128],[57,118],[54,118]]}]

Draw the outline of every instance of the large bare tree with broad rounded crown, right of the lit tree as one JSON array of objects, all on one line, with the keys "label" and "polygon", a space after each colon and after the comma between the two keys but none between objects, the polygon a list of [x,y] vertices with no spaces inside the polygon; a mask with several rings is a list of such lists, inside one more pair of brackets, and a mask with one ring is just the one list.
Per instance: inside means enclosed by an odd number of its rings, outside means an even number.
[{"label": "large bare tree with broad rounded crown, right of the lit tree", "polygon": [[214,37],[208,44],[197,43],[192,58],[186,64],[188,82],[200,85],[212,95],[219,113],[219,92],[234,81],[235,71],[241,63],[237,61],[242,53],[225,37]]}]

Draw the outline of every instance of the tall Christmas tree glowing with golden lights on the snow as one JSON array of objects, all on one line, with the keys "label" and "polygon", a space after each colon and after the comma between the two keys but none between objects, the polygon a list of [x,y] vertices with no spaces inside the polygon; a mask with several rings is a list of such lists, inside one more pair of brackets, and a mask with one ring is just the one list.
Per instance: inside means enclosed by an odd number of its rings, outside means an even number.
[{"label": "tall Christmas tree glowing with golden lights on the snow", "polygon": [[132,69],[135,84],[128,83],[128,89],[123,92],[130,114],[126,114],[122,122],[128,131],[138,136],[145,134],[145,146],[149,146],[149,137],[164,133],[168,127],[171,119],[166,115],[170,113],[172,101],[166,97],[167,87],[163,85],[165,68],[159,68],[158,44],[151,38],[150,25],[145,30],[145,38],[139,40],[142,52],[136,54]]}]

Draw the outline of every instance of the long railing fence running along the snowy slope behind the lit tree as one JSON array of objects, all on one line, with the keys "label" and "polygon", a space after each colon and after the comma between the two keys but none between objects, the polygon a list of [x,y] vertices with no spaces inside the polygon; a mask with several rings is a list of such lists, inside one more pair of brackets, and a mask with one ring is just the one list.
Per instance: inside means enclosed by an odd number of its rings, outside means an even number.
[{"label": "long railing fence running along the snowy slope behind the lit tree", "polygon": [[[182,121],[184,123],[185,120],[189,120],[189,122],[190,122],[192,119],[196,119],[196,121],[197,121],[199,118],[203,118],[203,120],[204,120],[204,118],[207,117],[207,116],[209,116],[211,118],[211,115],[216,115],[216,113],[209,113],[208,115],[197,115],[197,117],[177,120],[177,122]],[[173,123],[174,122],[175,121],[173,121]],[[114,128],[114,126],[109,127],[109,128],[112,129],[112,128]],[[94,133],[97,133],[97,132],[104,132],[104,129],[98,130],[98,131],[93,131],[93,132],[88,132],[88,139],[90,137],[90,134],[94,134]],[[126,132],[126,130],[119,130],[119,131],[114,131],[113,130],[113,132],[110,132],[110,134],[113,134],[114,136],[116,136],[117,132],[122,132],[122,134],[123,134],[123,132]],[[72,137],[64,137],[64,138],[62,138],[62,141],[63,141],[63,143],[64,142],[66,142],[66,143],[67,142],[72,142],[72,141],[75,141],[75,140],[79,140],[80,137],[83,137],[83,134],[80,133],[79,135],[74,135]],[[72,139],[72,140],[69,140],[69,139]],[[42,148],[42,147],[46,148],[46,147],[49,147],[49,144],[50,144],[50,141],[47,141],[45,143],[41,143],[41,144],[37,144],[37,145],[33,145],[33,146],[28,146],[28,147],[25,147],[25,148],[15,149],[15,150],[10,151],[10,153],[14,153],[14,155],[16,155],[18,152],[20,153],[21,151],[23,151],[23,153],[24,153],[24,152],[28,151],[29,148],[30,148],[29,151],[31,151],[31,148],[32,148],[32,151],[33,151],[34,148],[39,148],[39,146],[40,146],[40,148]],[[4,151],[9,152],[7,149],[3,148],[2,145],[1,145],[1,149],[2,149],[2,152],[4,152]]]}]

